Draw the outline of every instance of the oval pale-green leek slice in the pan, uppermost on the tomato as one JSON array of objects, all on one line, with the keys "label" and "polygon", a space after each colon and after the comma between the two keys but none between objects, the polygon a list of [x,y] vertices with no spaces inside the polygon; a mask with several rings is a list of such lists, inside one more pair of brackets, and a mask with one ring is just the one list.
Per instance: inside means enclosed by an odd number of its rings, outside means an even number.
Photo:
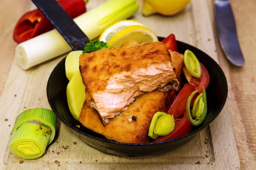
[{"label": "oval pale-green leek slice in the pan, uppermost on the tomato", "polygon": [[190,50],[185,51],[185,53],[184,53],[184,63],[185,63],[185,66],[186,66],[187,70],[189,71],[189,73],[192,76],[194,76],[196,78],[201,77],[202,69],[201,69],[200,62],[195,57],[195,54],[192,51],[190,51]]}]

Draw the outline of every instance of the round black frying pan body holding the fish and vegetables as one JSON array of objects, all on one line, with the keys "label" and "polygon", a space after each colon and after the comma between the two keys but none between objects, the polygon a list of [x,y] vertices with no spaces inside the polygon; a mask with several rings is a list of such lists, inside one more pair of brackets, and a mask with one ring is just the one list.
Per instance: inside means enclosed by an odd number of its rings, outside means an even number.
[{"label": "round black frying pan body holding the fish and vegetables", "polygon": [[[33,1],[35,3],[35,1],[40,0]],[[47,3],[52,3],[52,0],[45,1],[47,1]],[[42,7],[42,2],[40,2],[40,4],[35,4],[38,6],[38,8]],[[50,8],[52,8],[52,6],[53,5],[51,4]],[[56,10],[57,9],[55,8],[52,11],[57,12]],[[49,20],[51,20],[51,17],[52,16],[47,16]],[[51,22],[54,25],[54,21]],[[63,36],[65,39],[68,39],[68,37],[65,37],[65,35]],[[159,41],[164,39],[163,37],[158,38]],[[86,38],[84,40],[86,40]],[[70,46],[72,47],[72,45]],[[182,144],[189,142],[196,135],[198,135],[198,133],[200,133],[201,130],[207,127],[218,116],[226,102],[228,88],[224,72],[211,57],[209,57],[206,53],[199,50],[198,48],[195,48],[192,45],[186,44],[184,42],[177,41],[177,46],[178,52],[181,54],[184,54],[184,52],[187,49],[193,51],[193,53],[198,57],[199,61],[203,63],[203,65],[207,68],[207,71],[209,72],[210,76],[209,86],[206,90],[208,105],[207,117],[205,118],[204,122],[201,125],[193,127],[192,132],[185,136],[181,136],[176,139],[158,143],[127,144],[108,140],[104,136],[98,133],[94,133],[90,129],[87,129],[86,127],[81,125],[79,121],[73,118],[67,105],[66,89],[69,81],[65,74],[66,57],[62,59],[61,62],[58,63],[58,65],[56,65],[56,67],[53,69],[49,77],[47,83],[47,98],[49,105],[52,108],[52,111],[54,111],[54,113],[61,120],[61,122],[67,125],[67,127],[69,127],[70,130],[72,130],[77,136],[79,136],[86,144],[95,147],[96,149],[102,150],[103,152],[106,153],[122,156],[146,156],[165,153],[168,150],[173,150],[177,147],[180,147]],[[80,128],[77,128],[76,125],[80,125]]]}]

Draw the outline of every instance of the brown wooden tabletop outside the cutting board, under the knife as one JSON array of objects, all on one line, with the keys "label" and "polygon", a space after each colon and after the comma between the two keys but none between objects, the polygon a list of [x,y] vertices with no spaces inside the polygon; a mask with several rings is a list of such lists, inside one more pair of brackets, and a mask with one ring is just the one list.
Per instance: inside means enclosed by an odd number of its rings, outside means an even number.
[{"label": "brown wooden tabletop outside the cutting board, under the knife", "polygon": [[[241,50],[245,65],[236,67],[224,56],[218,42],[214,21],[214,1],[207,0],[210,18],[215,34],[216,52],[221,68],[229,85],[226,102],[236,145],[239,152],[241,169],[256,168],[256,1],[231,0],[235,15]],[[10,67],[14,60],[16,43],[12,39],[13,28],[20,16],[31,7],[29,1],[3,0],[0,2],[0,95],[3,91]],[[3,120],[0,120],[1,122]]]}]

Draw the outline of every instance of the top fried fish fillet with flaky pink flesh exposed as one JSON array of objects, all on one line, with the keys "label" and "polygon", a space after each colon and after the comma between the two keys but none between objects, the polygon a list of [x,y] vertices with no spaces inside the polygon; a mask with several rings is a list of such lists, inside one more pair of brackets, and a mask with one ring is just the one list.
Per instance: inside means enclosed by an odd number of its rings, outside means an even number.
[{"label": "top fried fish fillet with flaky pink flesh exposed", "polygon": [[87,105],[97,110],[103,125],[145,92],[178,88],[171,55],[161,42],[82,54],[79,69]]}]

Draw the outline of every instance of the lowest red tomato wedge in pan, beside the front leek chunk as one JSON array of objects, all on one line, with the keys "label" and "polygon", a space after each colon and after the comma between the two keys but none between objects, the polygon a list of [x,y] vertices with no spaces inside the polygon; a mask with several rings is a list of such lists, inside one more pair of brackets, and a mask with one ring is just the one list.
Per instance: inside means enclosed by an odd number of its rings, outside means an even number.
[{"label": "lowest red tomato wedge in pan, beside the front leek chunk", "polygon": [[163,141],[175,139],[180,136],[184,136],[188,134],[189,132],[191,132],[191,129],[192,129],[192,125],[190,124],[189,119],[186,116],[186,113],[184,113],[184,116],[183,118],[180,119],[180,122],[178,122],[177,125],[175,124],[174,130],[172,131],[172,133],[166,136],[161,136],[160,138],[152,142],[163,142]]}]

